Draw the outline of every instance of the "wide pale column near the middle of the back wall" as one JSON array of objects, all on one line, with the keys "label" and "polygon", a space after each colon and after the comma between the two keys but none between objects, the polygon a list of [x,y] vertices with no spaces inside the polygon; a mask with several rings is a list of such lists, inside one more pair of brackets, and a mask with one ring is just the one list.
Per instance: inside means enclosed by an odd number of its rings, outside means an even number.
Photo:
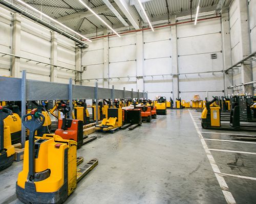
[{"label": "wide pale column near the middle of the back wall", "polygon": [[136,81],[137,89],[144,90],[144,40],[143,31],[136,32]]}]

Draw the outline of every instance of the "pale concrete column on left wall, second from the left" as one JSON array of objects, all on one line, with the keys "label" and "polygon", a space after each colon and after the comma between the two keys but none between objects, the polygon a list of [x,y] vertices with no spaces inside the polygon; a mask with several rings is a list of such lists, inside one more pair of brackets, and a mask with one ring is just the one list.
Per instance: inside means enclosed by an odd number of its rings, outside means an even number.
[{"label": "pale concrete column on left wall, second from the left", "polygon": [[[57,65],[58,33],[51,33],[51,64]],[[57,81],[57,67],[51,66],[51,82]]]}]

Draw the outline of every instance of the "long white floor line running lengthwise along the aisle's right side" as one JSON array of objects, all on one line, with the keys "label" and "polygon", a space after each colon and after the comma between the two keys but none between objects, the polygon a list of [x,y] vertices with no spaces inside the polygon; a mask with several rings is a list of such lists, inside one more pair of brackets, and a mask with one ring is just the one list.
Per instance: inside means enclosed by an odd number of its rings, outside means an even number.
[{"label": "long white floor line running lengthwise along the aisle's right side", "polygon": [[235,204],[236,200],[234,200],[234,197],[233,197],[232,193],[229,192],[227,183],[225,182],[224,177],[222,175],[220,175],[221,172],[220,172],[220,169],[219,169],[219,167],[217,166],[217,164],[216,164],[216,162],[214,160],[214,157],[212,157],[211,152],[209,151],[209,148],[208,148],[206,142],[204,141],[204,138],[203,138],[201,132],[199,131],[199,128],[198,128],[198,126],[197,126],[197,124],[196,124],[196,122],[195,122],[195,120],[194,120],[190,110],[188,110],[188,111],[189,111],[190,117],[191,117],[191,119],[192,119],[192,121],[193,121],[193,123],[195,125],[195,128],[197,130],[198,136],[201,139],[201,143],[202,143],[202,145],[204,147],[204,150],[205,150],[206,155],[208,157],[208,160],[210,162],[211,168],[212,168],[212,170],[214,170],[215,176],[217,178],[217,181],[219,182],[219,185],[220,185],[220,187],[222,189],[222,193],[223,193],[227,203],[228,204]]}]

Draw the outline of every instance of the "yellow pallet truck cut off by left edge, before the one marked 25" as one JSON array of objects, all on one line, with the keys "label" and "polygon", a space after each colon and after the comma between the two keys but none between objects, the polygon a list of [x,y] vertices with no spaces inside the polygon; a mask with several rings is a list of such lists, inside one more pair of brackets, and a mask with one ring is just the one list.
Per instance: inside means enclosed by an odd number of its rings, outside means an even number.
[{"label": "yellow pallet truck cut off by left edge, before the one marked 25", "polygon": [[12,111],[0,106],[0,171],[12,165],[15,154],[10,127],[4,125],[4,119],[9,115],[12,115]]}]

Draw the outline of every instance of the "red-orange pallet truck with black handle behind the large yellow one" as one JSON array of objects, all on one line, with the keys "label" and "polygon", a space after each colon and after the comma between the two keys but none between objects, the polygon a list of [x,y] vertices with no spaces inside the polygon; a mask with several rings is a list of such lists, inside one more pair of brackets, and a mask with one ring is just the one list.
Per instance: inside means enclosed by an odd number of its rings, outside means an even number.
[{"label": "red-orange pallet truck with black handle behind the large yellow one", "polygon": [[58,111],[63,113],[63,118],[58,120],[58,129],[55,134],[66,140],[74,140],[77,142],[77,148],[87,144],[95,139],[96,136],[83,136],[83,121],[76,119],[68,119],[67,115],[70,112],[70,107],[62,104],[58,107]]}]

